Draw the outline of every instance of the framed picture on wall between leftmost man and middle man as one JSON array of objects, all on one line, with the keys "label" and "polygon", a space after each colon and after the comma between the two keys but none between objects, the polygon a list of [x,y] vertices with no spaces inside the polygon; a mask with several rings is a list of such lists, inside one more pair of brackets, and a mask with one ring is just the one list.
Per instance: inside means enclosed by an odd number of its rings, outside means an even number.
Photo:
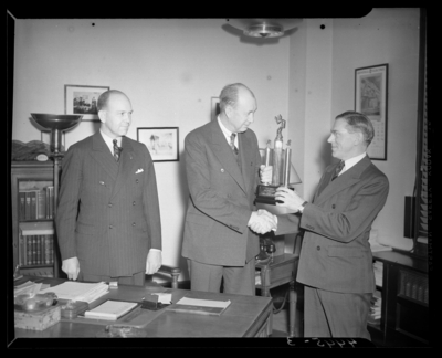
[{"label": "framed picture on wall between leftmost man and middle man", "polygon": [[154,161],[179,161],[178,127],[137,128],[137,140],[144,143]]}]

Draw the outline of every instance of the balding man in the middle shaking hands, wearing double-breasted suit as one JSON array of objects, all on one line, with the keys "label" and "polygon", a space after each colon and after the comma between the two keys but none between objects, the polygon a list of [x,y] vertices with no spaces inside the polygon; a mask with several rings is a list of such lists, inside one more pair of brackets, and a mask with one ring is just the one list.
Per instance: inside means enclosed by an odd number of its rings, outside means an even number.
[{"label": "balding man in the middle shaking hands, wearing double-breasted suit", "polygon": [[[256,110],[253,93],[242,84],[220,94],[220,115],[186,137],[189,204],[182,256],[188,257],[191,288],[255,294],[259,233],[270,231],[273,215],[255,211],[261,157],[248,129]],[[232,137],[233,134],[233,137]]]}]

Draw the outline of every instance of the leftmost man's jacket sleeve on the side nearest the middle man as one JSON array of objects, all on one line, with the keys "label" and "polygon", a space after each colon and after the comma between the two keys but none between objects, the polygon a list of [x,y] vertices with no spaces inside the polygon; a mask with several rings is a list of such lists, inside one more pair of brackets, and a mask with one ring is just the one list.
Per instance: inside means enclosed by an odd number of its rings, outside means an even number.
[{"label": "leftmost man's jacket sleeve on the side nearest the middle man", "polygon": [[146,158],[147,176],[143,191],[143,204],[150,238],[150,249],[161,250],[161,219],[159,213],[157,179],[154,162],[146,146],[144,146],[144,154]]}]

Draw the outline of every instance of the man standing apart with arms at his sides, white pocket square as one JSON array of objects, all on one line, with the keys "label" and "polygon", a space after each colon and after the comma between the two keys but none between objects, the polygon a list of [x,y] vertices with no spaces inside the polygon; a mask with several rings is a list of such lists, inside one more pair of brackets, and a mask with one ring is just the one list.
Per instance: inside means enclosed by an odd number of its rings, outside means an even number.
[{"label": "man standing apart with arms at his sides, white pocket square", "polygon": [[[63,159],[56,233],[69,278],[144,285],[161,265],[155,170],[144,144],[125,135],[131,104],[119,91],[97,103],[101,129]],[[115,143],[114,143],[115,141]]]}]

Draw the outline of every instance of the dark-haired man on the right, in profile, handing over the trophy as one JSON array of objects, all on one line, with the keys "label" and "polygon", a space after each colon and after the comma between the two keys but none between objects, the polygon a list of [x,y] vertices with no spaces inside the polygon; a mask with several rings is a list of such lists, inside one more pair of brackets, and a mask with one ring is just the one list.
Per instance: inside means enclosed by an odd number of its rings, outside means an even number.
[{"label": "dark-haired man on the right, in profile, handing over the trophy", "polygon": [[305,337],[370,339],[367,318],[375,274],[368,239],[389,191],[387,177],[366,154],[372,138],[365,115],[338,115],[328,143],[341,161],[326,168],[312,203],[277,189],[281,206],[298,213],[278,217],[276,234],[297,225],[304,230],[296,280],[305,285]]}]

